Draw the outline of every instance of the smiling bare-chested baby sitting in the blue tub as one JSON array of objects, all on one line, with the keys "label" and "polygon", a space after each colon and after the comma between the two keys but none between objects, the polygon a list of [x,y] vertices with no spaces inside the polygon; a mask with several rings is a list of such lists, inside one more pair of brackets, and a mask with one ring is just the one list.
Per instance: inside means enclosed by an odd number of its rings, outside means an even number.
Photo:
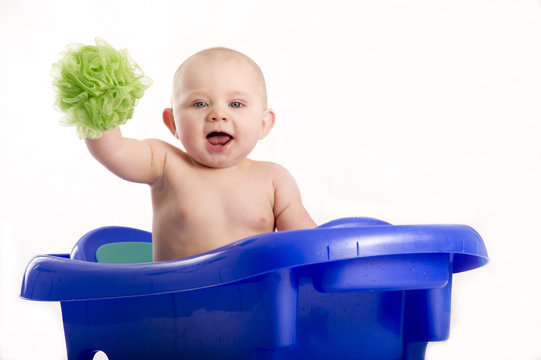
[{"label": "smiling bare-chested baby sitting in the blue tub", "polygon": [[86,144],[116,175],[150,185],[154,260],[171,260],[275,229],[316,226],[286,169],[247,158],[274,120],[257,64],[212,48],[178,68],[171,108],[163,111],[185,151],[124,138],[118,127]]}]

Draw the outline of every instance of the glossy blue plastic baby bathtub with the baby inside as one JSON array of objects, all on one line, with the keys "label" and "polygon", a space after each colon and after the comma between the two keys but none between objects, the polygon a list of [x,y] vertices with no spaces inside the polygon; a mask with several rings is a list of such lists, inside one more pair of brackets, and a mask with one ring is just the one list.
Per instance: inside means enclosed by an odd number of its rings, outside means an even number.
[{"label": "glossy blue plastic baby bathtub with the baby inside", "polygon": [[424,359],[449,336],[453,273],[488,262],[468,226],[368,218],[141,263],[150,243],[106,227],[28,264],[21,296],[60,301],[69,360]]}]

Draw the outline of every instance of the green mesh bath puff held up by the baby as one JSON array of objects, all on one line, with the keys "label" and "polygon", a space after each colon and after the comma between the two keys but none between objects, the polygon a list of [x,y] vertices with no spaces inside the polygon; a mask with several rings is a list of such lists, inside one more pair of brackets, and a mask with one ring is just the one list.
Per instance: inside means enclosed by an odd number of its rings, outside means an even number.
[{"label": "green mesh bath puff held up by the baby", "polygon": [[126,50],[99,38],[96,46],[69,45],[53,65],[56,105],[66,114],[62,124],[76,126],[80,138],[97,139],[125,124],[151,84]]}]

